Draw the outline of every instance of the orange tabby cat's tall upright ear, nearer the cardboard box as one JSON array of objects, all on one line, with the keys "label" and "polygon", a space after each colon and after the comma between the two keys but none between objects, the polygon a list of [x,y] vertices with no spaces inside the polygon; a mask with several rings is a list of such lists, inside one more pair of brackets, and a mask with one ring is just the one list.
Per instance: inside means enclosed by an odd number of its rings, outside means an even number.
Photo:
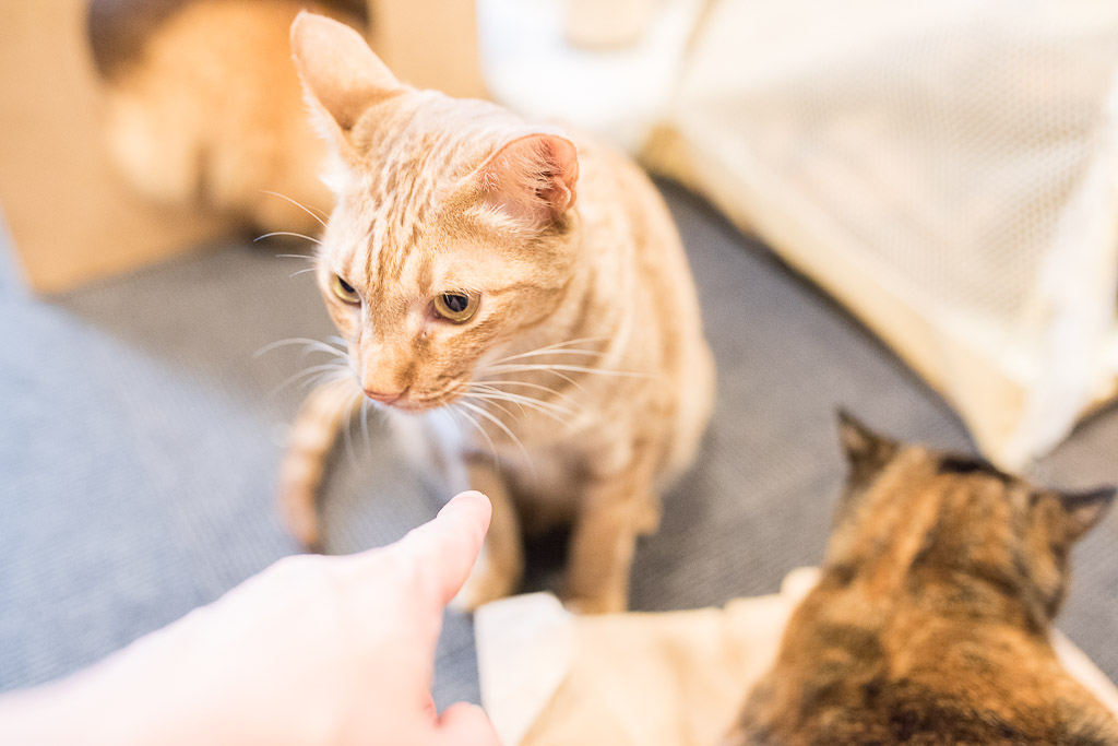
[{"label": "orange tabby cat's tall upright ear, nearer the cardboard box", "polygon": [[360,34],[325,16],[301,11],[291,50],[307,97],[343,135],[377,98],[404,87]]}]

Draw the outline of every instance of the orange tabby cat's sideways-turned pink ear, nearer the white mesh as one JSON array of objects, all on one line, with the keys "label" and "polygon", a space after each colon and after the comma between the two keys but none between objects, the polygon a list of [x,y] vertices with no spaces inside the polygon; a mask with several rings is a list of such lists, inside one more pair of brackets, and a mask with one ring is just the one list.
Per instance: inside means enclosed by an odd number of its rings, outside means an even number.
[{"label": "orange tabby cat's sideways-turned pink ear, nearer the white mesh", "polygon": [[492,207],[541,226],[575,205],[578,149],[556,133],[522,135],[498,150],[482,166],[479,179]]}]

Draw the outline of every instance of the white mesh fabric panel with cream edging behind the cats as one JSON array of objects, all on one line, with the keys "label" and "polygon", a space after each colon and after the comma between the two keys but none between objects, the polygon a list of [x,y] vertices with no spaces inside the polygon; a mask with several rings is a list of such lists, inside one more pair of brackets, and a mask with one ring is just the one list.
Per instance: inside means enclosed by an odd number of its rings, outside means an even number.
[{"label": "white mesh fabric panel with cream edging behind the cats", "polygon": [[720,0],[650,158],[1020,468],[1115,391],[1118,2]]}]

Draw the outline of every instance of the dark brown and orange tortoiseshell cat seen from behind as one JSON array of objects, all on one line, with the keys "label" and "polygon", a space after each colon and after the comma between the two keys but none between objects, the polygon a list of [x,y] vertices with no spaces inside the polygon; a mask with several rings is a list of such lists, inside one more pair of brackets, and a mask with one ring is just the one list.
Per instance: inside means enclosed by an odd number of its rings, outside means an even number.
[{"label": "dark brown and orange tortoiseshell cat seen from behind", "polygon": [[1118,744],[1049,642],[1068,551],[1114,489],[1064,494],[849,416],[818,586],[729,744]]}]

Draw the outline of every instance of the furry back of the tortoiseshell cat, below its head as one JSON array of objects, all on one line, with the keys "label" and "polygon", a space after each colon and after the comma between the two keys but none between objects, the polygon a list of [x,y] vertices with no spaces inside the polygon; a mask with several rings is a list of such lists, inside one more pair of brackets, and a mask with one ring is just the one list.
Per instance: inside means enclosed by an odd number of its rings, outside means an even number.
[{"label": "furry back of the tortoiseshell cat, below its head", "polygon": [[823,586],[805,599],[778,668],[754,689],[727,743],[1118,744],[1112,716],[1045,639],[922,614],[885,632],[823,621],[865,611]]}]

